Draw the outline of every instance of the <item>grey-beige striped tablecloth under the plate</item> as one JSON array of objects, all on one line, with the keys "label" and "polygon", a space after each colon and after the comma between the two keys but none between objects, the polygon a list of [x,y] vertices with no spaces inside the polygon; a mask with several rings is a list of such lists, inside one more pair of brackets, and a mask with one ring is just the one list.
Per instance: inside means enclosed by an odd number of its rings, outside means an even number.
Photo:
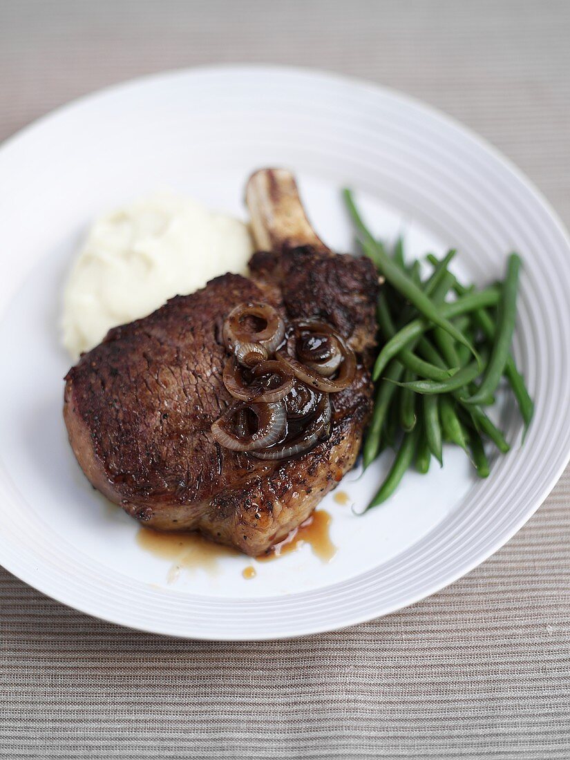
[{"label": "grey-beige striped tablecloth under the plate", "polygon": [[[82,93],[211,62],[309,65],[461,119],[570,224],[570,3],[0,0],[0,139]],[[0,569],[0,757],[570,757],[570,471],[451,587],[340,632],[178,641]]]}]

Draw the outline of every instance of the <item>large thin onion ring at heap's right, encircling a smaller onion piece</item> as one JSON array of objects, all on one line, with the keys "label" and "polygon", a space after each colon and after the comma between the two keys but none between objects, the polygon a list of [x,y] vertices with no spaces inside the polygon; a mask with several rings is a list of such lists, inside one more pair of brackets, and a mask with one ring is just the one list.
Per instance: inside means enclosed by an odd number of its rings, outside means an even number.
[{"label": "large thin onion ring at heap's right, encircling a smaller onion piece", "polygon": [[[319,332],[330,334],[337,341],[342,353],[342,362],[338,369],[338,375],[334,379],[326,378],[315,372],[314,369],[306,366],[296,358],[296,341],[303,331]],[[277,351],[275,358],[277,361],[286,364],[292,369],[293,374],[302,382],[305,382],[310,388],[316,388],[318,391],[325,393],[336,393],[348,388],[353,382],[356,373],[356,356],[343,337],[327,325],[326,322],[318,321],[299,321],[295,326],[295,336],[287,340],[287,345]]]}]

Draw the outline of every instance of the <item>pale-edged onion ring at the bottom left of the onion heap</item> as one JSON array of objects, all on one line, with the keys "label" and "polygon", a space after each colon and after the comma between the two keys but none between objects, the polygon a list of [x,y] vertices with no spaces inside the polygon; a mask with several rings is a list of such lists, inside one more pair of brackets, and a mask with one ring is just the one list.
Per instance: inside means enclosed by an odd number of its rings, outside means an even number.
[{"label": "pale-edged onion ring at the bottom left of the onion heap", "polygon": [[[247,428],[243,413],[248,411],[255,414],[258,429],[255,432],[244,432]],[[232,429],[232,420],[236,417],[236,431]],[[219,420],[211,426],[214,439],[224,448],[232,451],[255,451],[267,448],[283,440],[287,432],[287,412],[283,401],[277,404],[233,404]]]}]

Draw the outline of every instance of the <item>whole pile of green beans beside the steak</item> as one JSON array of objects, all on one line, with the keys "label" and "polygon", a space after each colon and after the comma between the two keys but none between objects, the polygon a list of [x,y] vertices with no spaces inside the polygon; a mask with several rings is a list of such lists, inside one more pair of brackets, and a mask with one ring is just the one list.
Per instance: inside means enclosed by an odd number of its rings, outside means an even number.
[{"label": "whole pile of green beans beside the steak", "polygon": [[[443,464],[443,443],[462,448],[480,477],[489,475],[486,446],[502,454],[505,436],[483,407],[495,403],[504,377],[526,433],[534,404],[511,354],[521,258],[508,256],[505,279],[477,290],[461,284],[430,254],[432,271],[422,280],[420,261],[406,261],[398,239],[392,252],[370,233],[350,190],[343,191],[356,239],[385,282],[378,296],[378,344],[372,369],[375,401],[363,444],[366,468],[385,448],[395,457],[367,508],[382,504],[406,470],[426,473],[432,457]],[[453,298],[453,299],[450,299]]]}]

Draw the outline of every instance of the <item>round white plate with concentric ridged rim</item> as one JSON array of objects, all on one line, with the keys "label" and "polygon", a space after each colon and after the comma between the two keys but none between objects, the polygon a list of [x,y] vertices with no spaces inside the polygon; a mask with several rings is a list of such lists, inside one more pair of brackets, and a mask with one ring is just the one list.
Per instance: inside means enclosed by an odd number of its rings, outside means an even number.
[{"label": "round white plate with concentric ridged rim", "polygon": [[[303,546],[278,561],[242,556],[216,572],[147,553],[138,526],[88,485],[62,422],[62,278],[101,211],[168,185],[245,216],[252,169],[299,176],[309,215],[337,250],[351,247],[338,190],[352,185],[378,235],[404,230],[420,255],[461,250],[463,274],[502,274],[524,257],[515,353],[536,401],[521,423],[502,407],[513,448],[477,482],[458,451],[445,468],[408,473],[365,517],[325,499],[338,550]],[[229,67],[112,87],[24,130],[0,150],[0,562],[46,594],[138,629],[277,638],[334,629],[432,594],[499,548],[532,515],[570,451],[570,246],[543,198],[496,151],[410,98],[309,71]],[[387,467],[350,473],[357,508]],[[242,578],[253,564],[257,576]],[[168,578],[169,576],[169,578]]]}]

